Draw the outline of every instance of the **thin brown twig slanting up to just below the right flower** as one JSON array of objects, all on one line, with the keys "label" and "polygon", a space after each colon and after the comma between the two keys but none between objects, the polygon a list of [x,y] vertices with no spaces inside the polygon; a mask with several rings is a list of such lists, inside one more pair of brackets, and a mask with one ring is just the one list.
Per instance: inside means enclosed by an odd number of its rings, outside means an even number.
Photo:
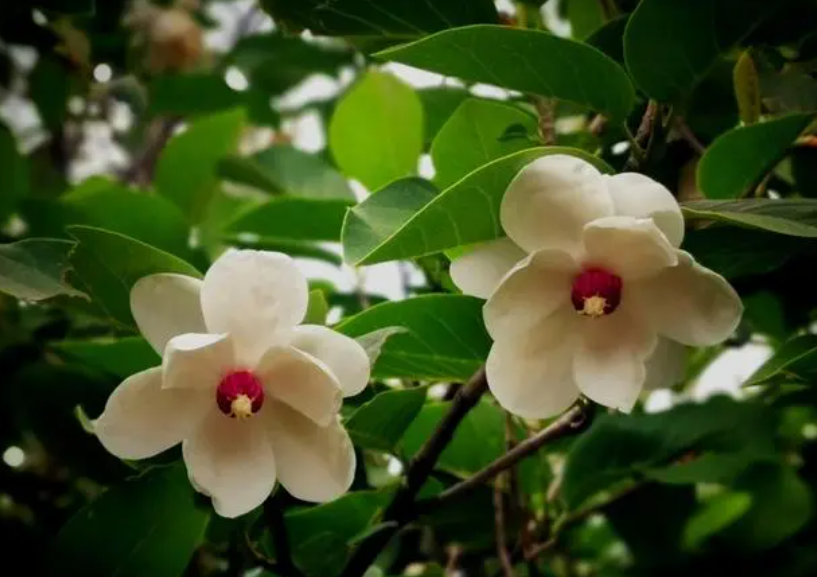
[{"label": "thin brown twig slanting up to just below the right flower", "polygon": [[432,497],[419,503],[422,510],[435,508],[440,503],[456,499],[465,493],[470,492],[497,476],[502,471],[512,467],[517,462],[525,457],[532,455],[538,451],[543,445],[560,439],[567,435],[576,433],[587,422],[585,408],[583,404],[575,405],[569,411],[564,413],[561,417],[553,421],[550,425],[539,431],[532,437],[525,439],[519,443],[513,450],[508,451],[499,459],[486,466],[484,469],[478,471],[471,477],[465,479],[461,483],[449,487],[436,497]]}]

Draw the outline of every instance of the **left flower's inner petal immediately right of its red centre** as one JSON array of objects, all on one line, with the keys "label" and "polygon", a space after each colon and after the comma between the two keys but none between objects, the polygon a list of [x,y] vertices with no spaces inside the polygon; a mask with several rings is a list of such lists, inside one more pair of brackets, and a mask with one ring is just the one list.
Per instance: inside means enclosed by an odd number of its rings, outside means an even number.
[{"label": "left flower's inner petal immediately right of its red centre", "polygon": [[255,374],[267,395],[319,425],[329,424],[343,402],[340,383],[329,367],[293,347],[270,349],[261,358]]}]

